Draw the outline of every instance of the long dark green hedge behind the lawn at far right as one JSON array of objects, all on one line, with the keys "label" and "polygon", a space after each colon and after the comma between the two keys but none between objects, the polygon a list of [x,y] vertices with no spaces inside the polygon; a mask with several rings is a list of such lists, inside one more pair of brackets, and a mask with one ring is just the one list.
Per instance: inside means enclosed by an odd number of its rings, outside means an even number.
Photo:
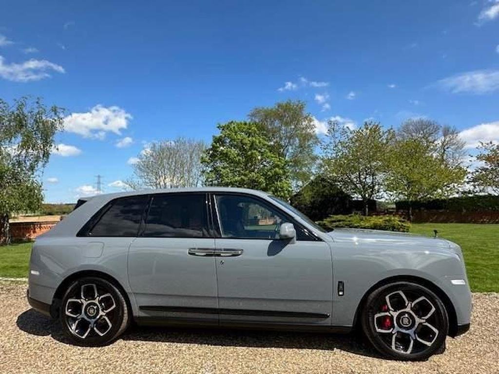
[{"label": "long dark green hedge behind the lawn at far right", "polygon": [[[409,202],[406,200],[395,203],[397,210],[407,210]],[[413,201],[413,210],[449,210],[449,211],[484,211],[499,210],[499,196],[473,195],[451,197],[449,199],[435,199],[428,201]]]}]

